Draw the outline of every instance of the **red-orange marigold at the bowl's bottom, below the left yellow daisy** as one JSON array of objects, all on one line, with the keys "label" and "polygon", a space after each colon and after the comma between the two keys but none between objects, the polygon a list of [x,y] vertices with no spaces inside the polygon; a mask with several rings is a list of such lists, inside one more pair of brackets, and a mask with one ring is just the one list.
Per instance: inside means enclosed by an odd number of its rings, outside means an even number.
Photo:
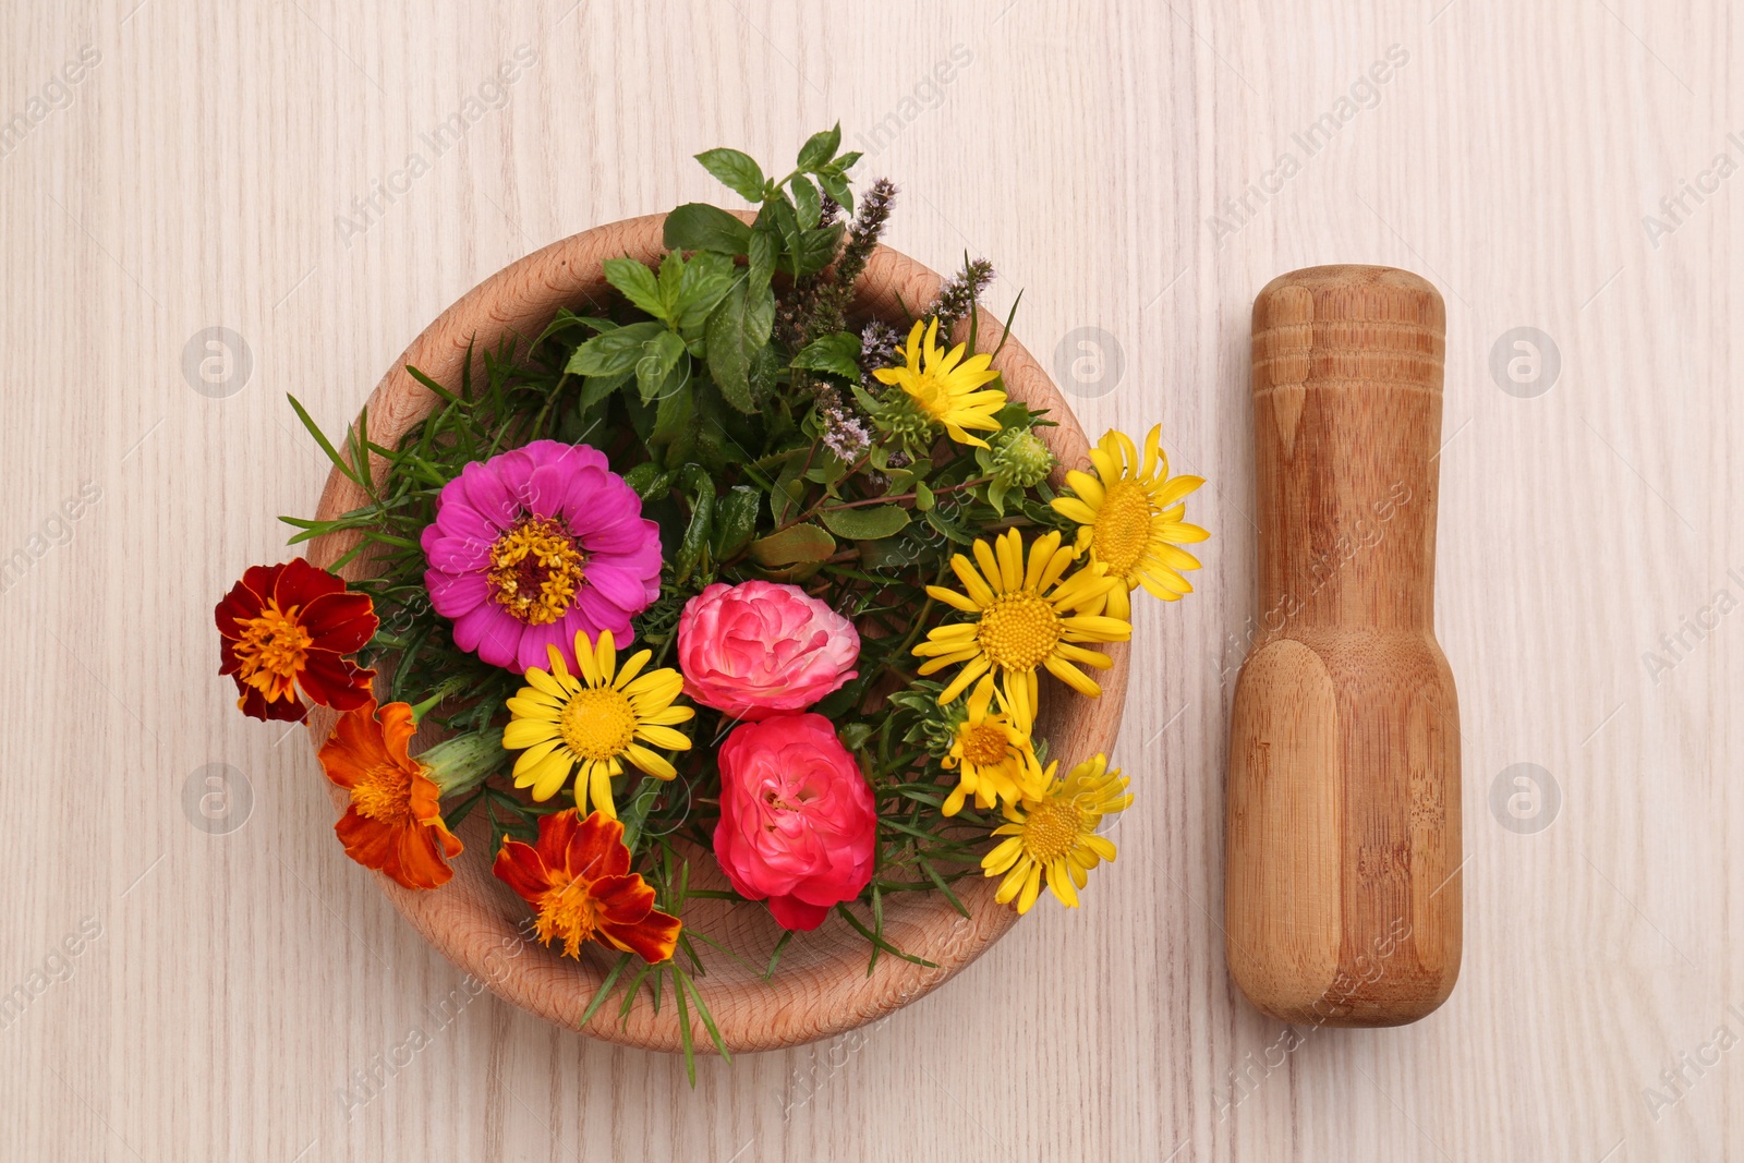
[{"label": "red-orange marigold at the bowl's bottom, below the left yellow daisy", "polygon": [[508,840],[497,853],[497,877],[539,910],[539,940],[563,938],[563,952],[581,956],[581,943],[666,961],[678,945],[678,917],[654,907],[654,889],[630,872],[624,825],[576,809],[544,816],[539,842]]}]

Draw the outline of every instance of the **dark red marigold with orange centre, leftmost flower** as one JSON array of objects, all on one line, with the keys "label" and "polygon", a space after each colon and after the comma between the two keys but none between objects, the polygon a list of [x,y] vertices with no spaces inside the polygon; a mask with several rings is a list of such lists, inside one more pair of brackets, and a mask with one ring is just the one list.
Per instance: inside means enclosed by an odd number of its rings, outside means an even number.
[{"label": "dark red marigold with orange centre, leftmost flower", "polygon": [[235,678],[235,704],[255,718],[298,720],[310,701],[349,711],[370,699],[373,670],[345,654],[375,635],[375,603],[303,558],[255,565],[213,610],[221,636],[220,675]]}]

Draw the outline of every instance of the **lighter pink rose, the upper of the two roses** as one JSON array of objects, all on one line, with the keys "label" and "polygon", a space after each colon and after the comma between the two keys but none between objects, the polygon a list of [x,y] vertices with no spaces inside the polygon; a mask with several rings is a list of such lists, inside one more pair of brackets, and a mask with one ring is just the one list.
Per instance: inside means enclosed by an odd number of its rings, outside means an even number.
[{"label": "lighter pink rose, the upper of the two roses", "polygon": [[715,582],[678,617],[684,692],[732,718],[802,711],[855,678],[855,624],[799,586]]}]

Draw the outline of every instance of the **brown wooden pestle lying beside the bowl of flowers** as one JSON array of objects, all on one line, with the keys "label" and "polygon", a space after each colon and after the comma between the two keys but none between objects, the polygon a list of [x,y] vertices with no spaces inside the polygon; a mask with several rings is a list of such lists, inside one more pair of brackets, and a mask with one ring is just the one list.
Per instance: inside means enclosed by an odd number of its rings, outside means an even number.
[{"label": "brown wooden pestle lying beside the bowl of flowers", "polygon": [[1254,300],[1261,617],[1230,725],[1226,949],[1263,1011],[1399,1025],[1460,971],[1460,711],[1435,643],[1446,309],[1390,267]]}]

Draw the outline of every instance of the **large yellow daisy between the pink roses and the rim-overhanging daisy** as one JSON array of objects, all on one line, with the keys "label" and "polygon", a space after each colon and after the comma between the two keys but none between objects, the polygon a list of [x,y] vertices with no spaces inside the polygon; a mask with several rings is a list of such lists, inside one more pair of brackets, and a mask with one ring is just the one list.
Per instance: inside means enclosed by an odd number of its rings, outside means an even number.
[{"label": "large yellow daisy between the pink roses and the rim-overhanging daisy", "polygon": [[1120,582],[1104,575],[1100,565],[1078,570],[1066,581],[1060,577],[1071,567],[1076,553],[1060,546],[1060,534],[1050,532],[1029,546],[1029,563],[1024,563],[1024,539],[1015,528],[998,539],[998,556],[985,541],[975,541],[977,572],[961,553],[950,558],[950,568],[963,582],[964,593],[928,586],[926,593],[964,614],[968,622],[935,626],[926,642],[914,647],[923,675],[931,675],[963,663],[963,670],[938,696],[945,704],[963,694],[971,682],[998,668],[1006,690],[1015,680],[1027,687],[1027,706],[1036,706],[1036,668],[1066,685],[1092,697],[1102,694],[1078,663],[1107,670],[1106,654],[1087,650],[1083,642],[1127,642],[1132,624],[1100,616],[1106,596]]}]

